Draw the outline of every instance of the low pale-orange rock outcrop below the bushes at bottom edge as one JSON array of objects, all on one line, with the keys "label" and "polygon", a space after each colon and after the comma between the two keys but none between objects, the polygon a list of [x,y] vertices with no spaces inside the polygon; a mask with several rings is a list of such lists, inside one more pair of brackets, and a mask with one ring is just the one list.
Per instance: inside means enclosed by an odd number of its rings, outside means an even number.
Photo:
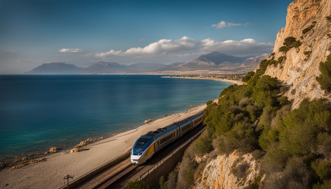
[{"label": "low pale-orange rock outcrop below the bushes at bottom edge", "polygon": [[[231,167],[236,164],[248,164],[245,178],[237,178],[231,173]],[[258,175],[256,169],[257,162],[253,159],[251,154],[240,156],[234,151],[229,156],[217,156],[216,159],[211,160],[204,168],[201,182],[195,183],[194,189],[242,189]]]}]

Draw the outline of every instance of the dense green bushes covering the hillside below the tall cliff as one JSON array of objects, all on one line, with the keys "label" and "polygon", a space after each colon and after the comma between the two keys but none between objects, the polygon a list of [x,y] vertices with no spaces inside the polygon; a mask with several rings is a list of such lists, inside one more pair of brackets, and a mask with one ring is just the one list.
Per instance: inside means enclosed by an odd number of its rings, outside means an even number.
[{"label": "dense green bushes covering the hillside below the tall cliff", "polygon": [[[291,111],[290,102],[282,96],[280,81],[263,75],[273,61],[261,61],[256,73],[246,78],[247,84],[224,89],[218,104],[207,103],[203,112],[207,129],[185,151],[176,174],[169,175],[171,188],[190,188],[198,178],[200,182],[206,163],[216,157],[213,149],[219,154],[234,150],[255,154],[260,161],[260,175],[248,188],[330,187],[330,103],[304,99],[298,109]],[[321,79],[317,80],[330,82],[330,63],[331,55],[321,63]],[[323,85],[327,86],[331,84]],[[246,168],[238,167],[233,173],[241,177],[238,171]]]}]

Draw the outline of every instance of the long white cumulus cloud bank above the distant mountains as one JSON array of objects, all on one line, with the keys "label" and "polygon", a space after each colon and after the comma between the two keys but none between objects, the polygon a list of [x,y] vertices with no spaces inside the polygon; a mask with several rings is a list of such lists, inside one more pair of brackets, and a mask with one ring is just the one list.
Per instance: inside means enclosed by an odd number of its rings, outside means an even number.
[{"label": "long white cumulus cloud bank above the distant mountains", "polygon": [[229,55],[259,55],[273,49],[273,43],[261,43],[254,39],[217,41],[212,38],[194,40],[184,36],[178,40],[160,39],[145,47],[132,47],[127,50],[110,50],[96,53],[99,58],[109,56],[151,57],[151,56],[186,56],[201,55],[211,51],[218,51]]}]

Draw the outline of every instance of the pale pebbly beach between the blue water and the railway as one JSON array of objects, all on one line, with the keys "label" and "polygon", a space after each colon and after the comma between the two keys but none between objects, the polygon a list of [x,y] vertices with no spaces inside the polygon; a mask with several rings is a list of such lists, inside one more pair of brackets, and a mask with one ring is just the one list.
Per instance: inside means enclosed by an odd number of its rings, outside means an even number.
[{"label": "pale pebbly beach between the blue water and the railway", "polygon": [[[192,116],[207,105],[193,107],[187,112],[171,114],[151,123],[96,141],[80,148],[78,153],[65,153],[68,150],[45,156],[47,161],[26,165],[20,169],[10,168],[0,171],[0,188],[59,188],[64,185],[62,178],[74,175],[74,178],[131,150],[134,142],[148,131],[169,125]],[[8,184],[6,186],[6,184]]]}]

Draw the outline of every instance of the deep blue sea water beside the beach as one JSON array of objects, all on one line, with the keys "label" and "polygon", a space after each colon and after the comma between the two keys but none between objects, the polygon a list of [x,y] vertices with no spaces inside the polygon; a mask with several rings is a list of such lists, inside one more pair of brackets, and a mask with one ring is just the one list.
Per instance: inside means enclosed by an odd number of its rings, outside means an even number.
[{"label": "deep blue sea water beside the beach", "polygon": [[160,75],[0,75],[0,159],[132,129],[213,100],[229,85]]}]

